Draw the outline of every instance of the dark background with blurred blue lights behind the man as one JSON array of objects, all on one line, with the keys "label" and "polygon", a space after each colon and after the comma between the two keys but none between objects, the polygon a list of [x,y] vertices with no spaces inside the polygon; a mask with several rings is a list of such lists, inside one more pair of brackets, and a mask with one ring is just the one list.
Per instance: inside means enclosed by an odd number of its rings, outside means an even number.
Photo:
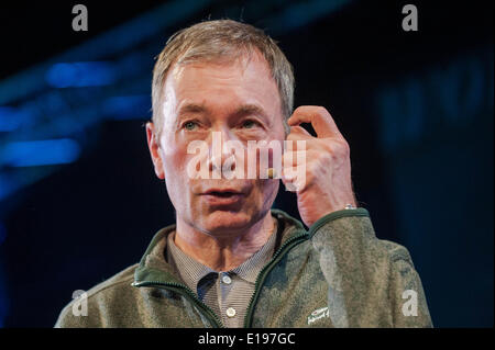
[{"label": "dark background with blurred blue lights behind the man", "polygon": [[[358,200],[409,249],[433,325],[493,327],[493,2],[82,1],[88,32],[72,30],[76,3],[0,8],[0,325],[52,327],[73,291],[174,222],[143,128],[153,57],[178,29],[230,18],[279,42],[295,106],[333,115]],[[402,29],[406,3],[418,32]],[[88,61],[94,83],[47,79]],[[47,139],[76,150],[32,144]],[[292,193],[275,206],[298,217]]]}]

